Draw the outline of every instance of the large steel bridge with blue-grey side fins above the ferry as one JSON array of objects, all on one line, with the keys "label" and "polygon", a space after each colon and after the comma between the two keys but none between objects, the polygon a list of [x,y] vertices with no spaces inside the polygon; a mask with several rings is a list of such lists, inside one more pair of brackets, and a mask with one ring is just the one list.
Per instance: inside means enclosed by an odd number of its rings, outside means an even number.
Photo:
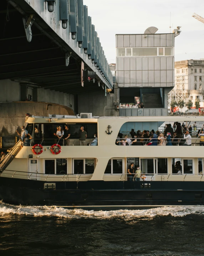
[{"label": "large steel bridge with blue-grey side fins above the ferry", "polygon": [[[29,111],[116,111],[106,95],[112,73],[83,0],[2,0],[0,22],[0,136],[14,136]],[[95,78],[83,79],[83,70]]]}]

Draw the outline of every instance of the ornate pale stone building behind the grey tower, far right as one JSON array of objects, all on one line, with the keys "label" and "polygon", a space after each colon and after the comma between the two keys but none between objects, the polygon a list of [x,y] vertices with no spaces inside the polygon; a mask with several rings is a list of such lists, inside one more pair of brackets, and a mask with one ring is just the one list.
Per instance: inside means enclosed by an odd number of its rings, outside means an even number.
[{"label": "ornate pale stone building behind the grey tower, far right", "polygon": [[204,107],[204,59],[190,59],[175,62],[175,86],[169,92],[168,107],[172,101],[183,100],[185,105],[200,100]]}]

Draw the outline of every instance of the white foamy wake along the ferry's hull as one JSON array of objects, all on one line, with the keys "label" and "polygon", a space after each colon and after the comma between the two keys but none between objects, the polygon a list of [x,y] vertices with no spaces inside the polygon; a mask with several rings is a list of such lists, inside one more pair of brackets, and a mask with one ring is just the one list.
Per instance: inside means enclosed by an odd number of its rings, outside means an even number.
[{"label": "white foamy wake along the ferry's hull", "polygon": [[114,210],[114,211],[87,211],[82,209],[66,209],[62,207],[47,206],[14,206],[0,202],[0,216],[7,214],[29,215],[34,217],[55,216],[67,219],[77,218],[153,218],[156,216],[171,215],[183,217],[188,214],[204,214],[204,206],[164,206],[143,210]]}]

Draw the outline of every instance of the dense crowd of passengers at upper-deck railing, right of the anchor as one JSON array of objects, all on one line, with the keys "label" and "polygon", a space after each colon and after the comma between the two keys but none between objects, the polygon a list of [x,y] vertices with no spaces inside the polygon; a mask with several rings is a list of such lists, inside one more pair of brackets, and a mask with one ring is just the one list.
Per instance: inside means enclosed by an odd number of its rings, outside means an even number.
[{"label": "dense crowd of passengers at upper-deck railing, right of the anchor", "polygon": [[[120,146],[191,146],[192,144],[192,130],[197,131],[196,122],[193,127],[190,125],[187,129],[186,125],[180,122],[175,122],[173,128],[171,124],[164,126],[164,132],[161,131],[148,131],[148,130],[131,130],[129,135],[125,135],[123,138],[122,133],[118,133],[116,145]],[[197,137],[200,138],[200,146],[204,146],[204,131],[198,130]]]}]

